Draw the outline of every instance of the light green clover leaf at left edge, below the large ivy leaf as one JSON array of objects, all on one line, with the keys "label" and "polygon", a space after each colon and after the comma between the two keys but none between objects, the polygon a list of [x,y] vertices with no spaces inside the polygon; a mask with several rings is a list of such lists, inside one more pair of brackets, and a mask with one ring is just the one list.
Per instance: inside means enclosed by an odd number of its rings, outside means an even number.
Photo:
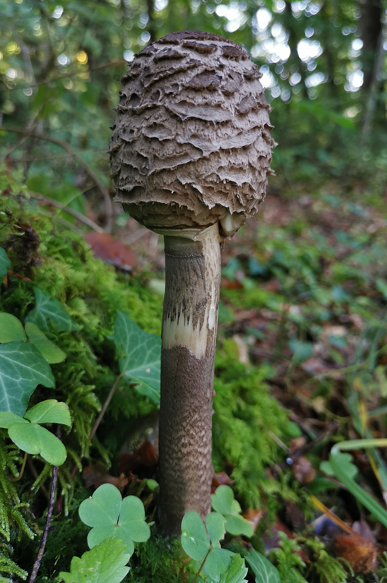
[{"label": "light green clover leaf at left edge, below the large ivy leaf", "polygon": [[24,413],[24,417],[0,411],[0,427],[8,429],[9,438],[17,447],[27,454],[40,454],[54,466],[61,466],[66,461],[66,448],[61,440],[41,427],[40,423],[60,423],[71,427],[66,403],[58,403],[55,399],[41,401]]}]

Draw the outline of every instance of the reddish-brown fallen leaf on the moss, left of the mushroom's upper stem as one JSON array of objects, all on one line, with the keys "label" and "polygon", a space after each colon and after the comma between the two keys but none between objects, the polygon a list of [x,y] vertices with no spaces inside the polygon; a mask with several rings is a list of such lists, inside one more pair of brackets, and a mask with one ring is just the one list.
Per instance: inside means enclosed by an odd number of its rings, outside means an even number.
[{"label": "reddish-brown fallen leaf on the moss, left of the mushroom's upper stem", "polygon": [[124,271],[132,271],[137,259],[128,245],[112,238],[109,233],[86,233],[86,243],[92,248],[94,257],[102,259],[109,265],[114,265]]}]

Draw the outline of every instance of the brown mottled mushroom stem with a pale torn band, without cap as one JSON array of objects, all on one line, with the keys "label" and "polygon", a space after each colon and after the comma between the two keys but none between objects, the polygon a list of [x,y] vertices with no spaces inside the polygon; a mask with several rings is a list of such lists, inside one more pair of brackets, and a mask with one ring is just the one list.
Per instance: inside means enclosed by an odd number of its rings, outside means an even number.
[{"label": "brown mottled mushroom stem with a pale torn band, without cap", "polygon": [[161,338],[160,521],[181,532],[189,510],[210,512],[212,395],[220,289],[214,224],[195,240],[165,236],[166,294]]}]

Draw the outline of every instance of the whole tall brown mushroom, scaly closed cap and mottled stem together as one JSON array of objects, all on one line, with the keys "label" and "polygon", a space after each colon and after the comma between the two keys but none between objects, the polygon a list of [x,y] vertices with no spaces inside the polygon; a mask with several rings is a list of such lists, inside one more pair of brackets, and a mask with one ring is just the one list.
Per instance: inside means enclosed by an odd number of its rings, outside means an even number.
[{"label": "whole tall brown mushroom, scaly closed cap and mottled stem together", "polygon": [[220,244],[265,196],[274,142],[257,66],[231,40],[167,34],[121,79],[110,144],[124,210],[164,235],[159,519],[210,511]]}]

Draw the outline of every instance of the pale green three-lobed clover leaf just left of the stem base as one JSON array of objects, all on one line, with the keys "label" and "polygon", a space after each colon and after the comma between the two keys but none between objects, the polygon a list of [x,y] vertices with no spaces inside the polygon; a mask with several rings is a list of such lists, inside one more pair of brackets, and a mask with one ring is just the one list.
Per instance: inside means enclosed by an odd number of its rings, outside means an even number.
[{"label": "pale green three-lobed clover leaf just left of the stem base", "polygon": [[79,518],[93,526],[87,536],[90,549],[109,536],[118,536],[126,545],[126,552],[132,556],[133,540],[143,542],[150,536],[142,501],[136,496],[126,496],[122,500],[119,490],[112,484],[103,484],[91,498],[83,500],[79,506]]}]

